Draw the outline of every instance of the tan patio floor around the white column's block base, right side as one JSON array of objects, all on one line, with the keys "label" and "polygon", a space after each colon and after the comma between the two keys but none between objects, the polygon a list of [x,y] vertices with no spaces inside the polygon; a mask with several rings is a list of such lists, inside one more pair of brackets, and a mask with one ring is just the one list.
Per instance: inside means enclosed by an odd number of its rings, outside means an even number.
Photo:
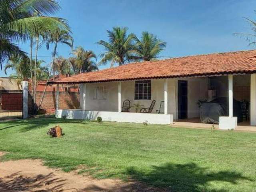
[{"label": "tan patio floor around the white column's block base, right side", "polygon": [[[190,118],[174,121],[171,124],[172,127],[185,127],[185,128],[201,128],[201,129],[210,129],[212,124],[201,123],[200,118]],[[214,124],[214,127],[218,130],[219,125]],[[251,126],[250,121],[244,121],[238,123],[238,127],[235,131],[253,131],[256,132],[256,126]]]}]

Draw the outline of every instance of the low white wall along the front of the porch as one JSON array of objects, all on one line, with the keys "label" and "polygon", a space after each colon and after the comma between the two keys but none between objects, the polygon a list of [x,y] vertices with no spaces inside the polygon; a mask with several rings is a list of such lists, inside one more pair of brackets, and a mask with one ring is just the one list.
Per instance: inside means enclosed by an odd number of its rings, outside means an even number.
[{"label": "low white wall along the front of the porch", "polygon": [[143,123],[149,124],[171,124],[172,114],[152,114],[152,113],[128,113],[128,112],[108,112],[108,111],[84,111],[84,110],[56,110],[56,118],[66,116],[68,119],[96,120],[101,117],[104,121]]}]

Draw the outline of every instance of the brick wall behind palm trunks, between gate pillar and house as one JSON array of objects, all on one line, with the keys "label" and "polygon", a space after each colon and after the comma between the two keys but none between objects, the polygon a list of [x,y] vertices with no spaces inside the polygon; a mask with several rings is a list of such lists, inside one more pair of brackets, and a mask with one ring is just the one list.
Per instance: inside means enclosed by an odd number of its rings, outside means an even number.
[{"label": "brick wall behind palm trunks, between gate pillar and house", "polygon": [[[42,91],[36,92],[36,105],[38,106],[42,98]],[[41,105],[42,111],[46,113],[54,113],[56,108],[56,92],[46,92]],[[59,92],[59,108],[60,109],[79,109],[79,92]]]}]

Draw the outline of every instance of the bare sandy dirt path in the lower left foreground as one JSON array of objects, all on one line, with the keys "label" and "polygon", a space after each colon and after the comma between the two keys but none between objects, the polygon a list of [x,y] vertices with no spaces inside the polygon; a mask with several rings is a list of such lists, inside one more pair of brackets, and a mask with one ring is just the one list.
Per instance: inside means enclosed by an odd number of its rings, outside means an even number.
[{"label": "bare sandy dirt path in the lower left foreground", "polygon": [[[0,152],[0,156],[4,152]],[[159,191],[136,182],[120,180],[96,180],[76,172],[43,166],[41,160],[17,160],[0,162],[0,192],[148,192]]]}]

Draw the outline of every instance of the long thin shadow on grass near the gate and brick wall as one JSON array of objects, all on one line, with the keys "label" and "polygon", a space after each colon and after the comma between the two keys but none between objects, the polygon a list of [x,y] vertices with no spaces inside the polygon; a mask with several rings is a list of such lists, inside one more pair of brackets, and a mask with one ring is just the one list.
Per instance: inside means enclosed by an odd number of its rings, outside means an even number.
[{"label": "long thin shadow on grass near the gate and brick wall", "polygon": [[1,130],[5,130],[8,128],[17,128],[18,126],[22,126],[21,131],[29,131],[37,128],[44,128],[49,126],[50,124],[60,124],[60,123],[72,123],[72,124],[84,124],[86,125],[89,120],[76,120],[76,119],[60,119],[60,118],[30,118],[26,120],[13,120],[13,121],[5,121],[8,126],[4,126],[0,128]]}]

